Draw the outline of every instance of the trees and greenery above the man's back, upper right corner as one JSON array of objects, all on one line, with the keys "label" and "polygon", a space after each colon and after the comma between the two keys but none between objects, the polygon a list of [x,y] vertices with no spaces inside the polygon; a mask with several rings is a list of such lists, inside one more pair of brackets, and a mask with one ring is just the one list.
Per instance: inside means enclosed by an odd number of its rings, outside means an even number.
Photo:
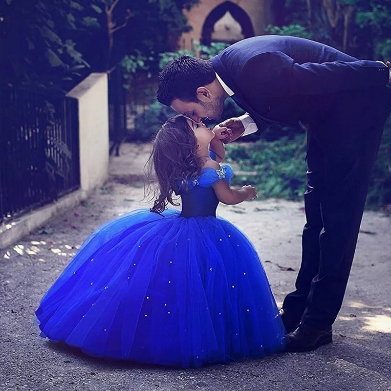
[{"label": "trees and greenery above the man's back, upper right corner", "polygon": [[283,18],[278,18],[277,25],[266,28],[269,34],[314,39],[357,58],[390,58],[391,0],[279,0],[278,3],[284,3],[275,10]]}]

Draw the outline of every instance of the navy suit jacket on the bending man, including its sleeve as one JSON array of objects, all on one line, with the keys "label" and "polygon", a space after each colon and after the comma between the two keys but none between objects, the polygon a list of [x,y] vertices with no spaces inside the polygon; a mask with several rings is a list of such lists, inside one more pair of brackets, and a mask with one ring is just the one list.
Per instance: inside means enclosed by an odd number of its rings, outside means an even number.
[{"label": "navy suit jacket on the bending man, including its sleeve", "polygon": [[248,38],[211,59],[233,99],[264,130],[324,121],[361,129],[382,125],[391,109],[390,70],[303,38]]}]

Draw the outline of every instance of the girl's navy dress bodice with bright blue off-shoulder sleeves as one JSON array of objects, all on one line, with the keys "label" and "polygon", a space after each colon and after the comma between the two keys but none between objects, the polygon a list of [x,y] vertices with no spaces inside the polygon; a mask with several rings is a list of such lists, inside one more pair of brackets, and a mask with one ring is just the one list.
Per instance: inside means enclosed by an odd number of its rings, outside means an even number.
[{"label": "girl's navy dress bodice with bright blue off-shoulder sleeves", "polygon": [[[216,155],[210,152],[212,159]],[[213,185],[219,180],[225,180],[228,185],[233,176],[232,169],[228,165],[215,170],[207,167],[197,177],[188,179],[188,190],[179,188],[178,194],[182,199],[181,217],[215,216],[219,200],[213,190]],[[183,190],[181,190],[183,189]]]}]

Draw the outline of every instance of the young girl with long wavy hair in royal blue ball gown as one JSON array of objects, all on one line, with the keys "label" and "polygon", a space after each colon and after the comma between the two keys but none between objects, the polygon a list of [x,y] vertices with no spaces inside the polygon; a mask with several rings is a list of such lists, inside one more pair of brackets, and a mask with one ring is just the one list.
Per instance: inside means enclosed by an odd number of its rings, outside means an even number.
[{"label": "young girl with long wavy hair in royal blue ball gown", "polygon": [[[283,349],[256,249],[216,217],[219,201],[256,197],[251,186],[230,188],[232,170],[218,164],[221,130],[182,115],[161,127],[148,162],[159,187],[152,209],[115,218],[87,238],[36,311],[43,337],[91,356],[179,367]],[[181,212],[166,209],[174,192]]]}]

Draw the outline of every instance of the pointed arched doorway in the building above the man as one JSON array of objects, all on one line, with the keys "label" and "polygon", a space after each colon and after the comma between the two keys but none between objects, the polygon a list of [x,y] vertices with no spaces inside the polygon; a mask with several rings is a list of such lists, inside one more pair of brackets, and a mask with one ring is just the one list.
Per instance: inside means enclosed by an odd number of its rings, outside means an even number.
[{"label": "pointed arched doorway in the building above the man", "polygon": [[[254,27],[246,11],[232,1],[225,1],[214,8],[205,19],[201,43],[207,46],[216,40],[234,43],[254,35]],[[218,37],[222,38],[217,39]]]}]

